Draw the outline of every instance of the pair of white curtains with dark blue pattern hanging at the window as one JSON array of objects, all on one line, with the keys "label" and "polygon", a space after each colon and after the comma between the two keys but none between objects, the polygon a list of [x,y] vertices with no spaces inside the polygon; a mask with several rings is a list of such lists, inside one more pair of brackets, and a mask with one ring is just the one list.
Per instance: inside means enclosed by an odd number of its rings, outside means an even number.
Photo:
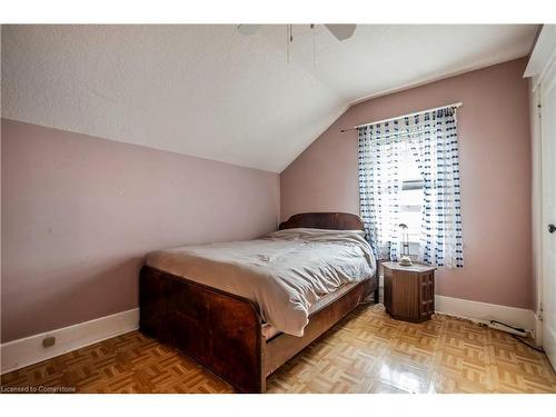
[{"label": "pair of white curtains with dark blue pattern hanging at the window", "polygon": [[400,143],[407,141],[424,180],[419,260],[463,267],[456,108],[359,128],[359,195],[369,242],[380,259],[398,258]]}]

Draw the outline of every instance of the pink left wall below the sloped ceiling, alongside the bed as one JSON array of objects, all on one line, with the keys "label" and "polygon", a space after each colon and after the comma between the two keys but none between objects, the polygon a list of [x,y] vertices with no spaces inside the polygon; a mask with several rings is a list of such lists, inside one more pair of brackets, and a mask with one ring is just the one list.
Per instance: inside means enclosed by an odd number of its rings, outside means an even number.
[{"label": "pink left wall below the sloped ceiling, alongside the bed", "polygon": [[279,177],[2,119],[2,341],[137,307],[152,249],[276,229]]}]

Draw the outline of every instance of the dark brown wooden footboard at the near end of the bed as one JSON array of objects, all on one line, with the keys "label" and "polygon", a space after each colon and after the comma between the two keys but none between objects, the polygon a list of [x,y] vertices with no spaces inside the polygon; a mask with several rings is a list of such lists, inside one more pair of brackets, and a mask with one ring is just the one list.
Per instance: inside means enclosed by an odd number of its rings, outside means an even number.
[{"label": "dark brown wooden footboard at the near end of the bed", "polygon": [[139,280],[139,327],[244,393],[264,393],[258,306],[249,299],[150,267]]}]

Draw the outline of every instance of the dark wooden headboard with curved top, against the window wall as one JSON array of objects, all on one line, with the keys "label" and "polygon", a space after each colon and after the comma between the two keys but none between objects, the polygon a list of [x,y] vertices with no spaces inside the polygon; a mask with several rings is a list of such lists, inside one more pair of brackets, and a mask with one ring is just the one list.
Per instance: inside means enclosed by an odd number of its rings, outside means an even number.
[{"label": "dark wooden headboard with curved top, against the window wall", "polygon": [[308,227],[331,230],[365,230],[363,220],[349,212],[301,212],[280,224],[279,229]]}]

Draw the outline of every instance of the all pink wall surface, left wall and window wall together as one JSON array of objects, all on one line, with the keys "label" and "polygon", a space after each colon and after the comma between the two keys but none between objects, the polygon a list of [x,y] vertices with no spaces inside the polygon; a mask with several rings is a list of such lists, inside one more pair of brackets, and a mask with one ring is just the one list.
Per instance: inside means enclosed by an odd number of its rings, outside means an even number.
[{"label": "all pink wall surface, left wall and window wall together", "polygon": [[[351,107],[277,175],[2,119],[1,340],[137,307],[145,252],[248,239],[300,211],[359,211],[357,135],[340,128],[463,101],[466,267],[437,292],[532,307],[526,60]],[[281,186],[280,186],[280,182]]]}]

